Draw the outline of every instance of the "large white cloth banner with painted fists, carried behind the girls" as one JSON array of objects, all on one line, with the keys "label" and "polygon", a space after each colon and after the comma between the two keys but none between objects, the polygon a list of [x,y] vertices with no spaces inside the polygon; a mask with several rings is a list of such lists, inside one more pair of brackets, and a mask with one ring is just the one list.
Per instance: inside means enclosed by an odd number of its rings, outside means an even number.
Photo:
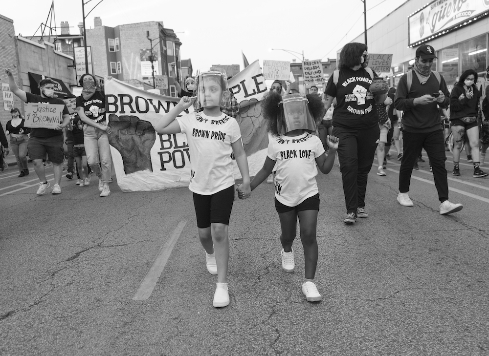
[{"label": "large white cloth banner with painted fists, carried behind the girls", "polygon": [[[233,77],[229,86],[239,98],[236,120],[241,128],[250,175],[255,175],[262,168],[267,153],[267,130],[259,102],[266,87],[259,65],[259,73],[255,67],[248,68]],[[113,78],[106,78],[105,96],[112,130],[109,135],[112,160],[122,191],[188,186],[190,153],[186,136],[181,133],[160,135],[152,124],[155,113],[164,116],[178,104],[179,98],[139,90]],[[182,114],[192,110],[190,107]],[[235,178],[241,178],[236,164],[234,171]]]}]

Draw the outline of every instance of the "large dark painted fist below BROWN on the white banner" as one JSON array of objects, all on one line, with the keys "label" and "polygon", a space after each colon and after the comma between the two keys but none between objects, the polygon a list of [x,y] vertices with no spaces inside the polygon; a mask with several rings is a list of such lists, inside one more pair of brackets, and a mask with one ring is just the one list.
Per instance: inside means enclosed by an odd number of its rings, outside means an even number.
[{"label": "large dark painted fist below BROWN on the white banner", "polygon": [[109,115],[109,143],[117,149],[124,164],[124,172],[131,174],[150,169],[151,147],[156,141],[156,131],[150,122],[139,120],[137,116]]}]

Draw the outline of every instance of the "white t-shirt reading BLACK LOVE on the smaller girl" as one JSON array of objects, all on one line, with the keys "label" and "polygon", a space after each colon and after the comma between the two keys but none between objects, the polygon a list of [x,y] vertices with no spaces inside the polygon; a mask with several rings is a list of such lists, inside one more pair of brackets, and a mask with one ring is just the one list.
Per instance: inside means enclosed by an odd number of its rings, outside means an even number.
[{"label": "white t-shirt reading BLACK LOVE on the smaller girl", "polygon": [[318,193],[315,159],[324,152],[319,137],[309,132],[268,141],[267,156],[277,162],[275,198],[280,203],[295,207]]}]

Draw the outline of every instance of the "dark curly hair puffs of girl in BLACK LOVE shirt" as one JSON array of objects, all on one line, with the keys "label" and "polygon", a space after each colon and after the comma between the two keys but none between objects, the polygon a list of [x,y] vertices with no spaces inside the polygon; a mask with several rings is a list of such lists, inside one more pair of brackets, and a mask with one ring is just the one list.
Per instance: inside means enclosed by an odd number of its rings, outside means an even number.
[{"label": "dark curly hair puffs of girl in BLACK LOVE shirt", "polygon": [[[321,98],[317,95],[306,95],[309,101],[309,109],[314,117],[316,124],[320,123],[324,116],[324,104]],[[279,136],[277,128],[277,118],[279,113],[279,104],[282,101],[282,96],[277,93],[270,92],[262,99],[263,116],[267,120],[267,130],[272,136]]]}]

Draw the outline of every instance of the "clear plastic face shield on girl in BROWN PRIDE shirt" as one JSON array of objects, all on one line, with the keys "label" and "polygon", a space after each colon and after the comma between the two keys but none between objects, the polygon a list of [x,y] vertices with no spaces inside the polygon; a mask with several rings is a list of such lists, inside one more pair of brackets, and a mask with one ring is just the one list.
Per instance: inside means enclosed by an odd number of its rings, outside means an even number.
[{"label": "clear plastic face shield on girl in BROWN PRIDE shirt", "polygon": [[194,96],[197,96],[197,109],[201,107],[231,107],[231,94],[227,85],[226,73],[218,70],[199,73],[195,80]]}]

